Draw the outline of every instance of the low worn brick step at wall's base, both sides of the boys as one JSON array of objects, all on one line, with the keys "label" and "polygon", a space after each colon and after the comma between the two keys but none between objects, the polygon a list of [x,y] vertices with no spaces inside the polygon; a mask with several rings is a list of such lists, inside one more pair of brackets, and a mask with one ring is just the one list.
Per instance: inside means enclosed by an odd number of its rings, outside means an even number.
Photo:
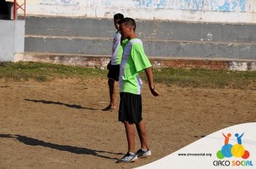
[{"label": "low worn brick step at wall's base, both sides of the boys", "polygon": [[[255,59],[149,57],[154,68],[256,71]],[[105,69],[108,55],[74,55],[71,53],[25,52],[15,55],[15,62],[36,61]]]}]

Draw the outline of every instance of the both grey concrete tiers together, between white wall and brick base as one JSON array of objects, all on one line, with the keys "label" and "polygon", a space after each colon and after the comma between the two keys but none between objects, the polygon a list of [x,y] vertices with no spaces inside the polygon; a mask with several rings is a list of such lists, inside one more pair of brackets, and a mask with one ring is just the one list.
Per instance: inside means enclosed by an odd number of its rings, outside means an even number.
[{"label": "both grey concrete tiers together, between white wall and brick base", "polygon": [[[256,25],[138,20],[146,54],[156,57],[256,59]],[[26,52],[111,55],[113,20],[28,17]]]}]

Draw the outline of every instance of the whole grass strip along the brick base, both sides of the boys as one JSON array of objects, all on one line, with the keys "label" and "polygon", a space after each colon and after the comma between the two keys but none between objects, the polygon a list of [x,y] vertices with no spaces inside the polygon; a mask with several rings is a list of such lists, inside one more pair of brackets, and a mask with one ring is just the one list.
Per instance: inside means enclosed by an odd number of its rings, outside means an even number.
[{"label": "whole grass strip along the brick base, both sides of the boys", "polygon": [[[180,87],[207,88],[255,88],[256,71],[207,71],[183,70],[173,68],[154,69],[154,82]],[[56,78],[104,78],[107,70],[99,68],[83,68],[80,66],[64,66],[50,63],[1,63],[0,79],[15,81],[34,79],[38,82],[50,81]],[[142,79],[146,80],[145,73]]]}]

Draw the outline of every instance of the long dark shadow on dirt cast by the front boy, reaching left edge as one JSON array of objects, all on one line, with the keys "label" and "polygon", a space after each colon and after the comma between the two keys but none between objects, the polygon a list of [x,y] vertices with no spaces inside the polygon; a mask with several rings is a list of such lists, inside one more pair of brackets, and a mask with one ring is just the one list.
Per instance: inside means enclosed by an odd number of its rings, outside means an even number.
[{"label": "long dark shadow on dirt cast by the front boy, reaching left edge", "polygon": [[44,146],[50,149],[57,149],[59,151],[71,152],[74,154],[89,154],[96,157],[102,157],[105,159],[110,160],[118,160],[117,158],[108,157],[105,155],[101,155],[99,153],[109,153],[109,154],[122,154],[122,153],[113,153],[113,152],[105,152],[99,151],[94,149],[86,149],[77,146],[67,146],[67,145],[59,145],[59,144],[52,144],[45,141],[37,140],[36,138],[30,138],[24,135],[10,135],[10,134],[0,134],[0,138],[15,138],[16,140],[20,141],[20,143],[29,145],[29,146]]}]

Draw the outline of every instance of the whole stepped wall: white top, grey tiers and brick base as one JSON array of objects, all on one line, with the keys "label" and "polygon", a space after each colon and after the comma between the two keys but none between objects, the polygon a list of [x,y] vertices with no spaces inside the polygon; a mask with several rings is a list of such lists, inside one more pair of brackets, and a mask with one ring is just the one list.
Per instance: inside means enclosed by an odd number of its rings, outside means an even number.
[{"label": "whole stepped wall: white top, grey tiers and brick base", "polygon": [[255,0],[27,0],[26,9],[17,60],[105,66],[121,12],[137,19],[154,66],[256,69]]}]

